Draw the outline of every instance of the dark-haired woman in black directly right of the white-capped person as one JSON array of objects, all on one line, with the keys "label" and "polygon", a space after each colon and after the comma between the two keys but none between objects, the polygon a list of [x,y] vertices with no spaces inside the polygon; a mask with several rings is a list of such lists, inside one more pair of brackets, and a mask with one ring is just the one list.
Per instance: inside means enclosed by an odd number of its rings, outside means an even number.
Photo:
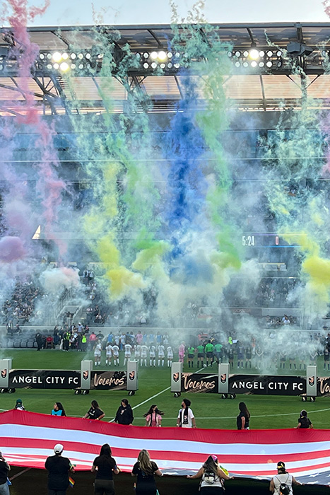
[{"label": "dark-haired woman in black directly right of the white-capped person", "polygon": [[119,474],[119,469],[108,443],[102,445],[100,455],[93,461],[91,472],[95,471],[94,495],[114,495],[113,473]]}]

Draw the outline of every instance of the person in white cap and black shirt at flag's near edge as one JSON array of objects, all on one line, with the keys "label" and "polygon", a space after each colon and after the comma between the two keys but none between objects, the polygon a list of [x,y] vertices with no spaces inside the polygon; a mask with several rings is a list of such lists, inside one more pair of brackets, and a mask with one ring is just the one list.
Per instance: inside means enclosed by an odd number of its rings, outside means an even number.
[{"label": "person in white cap and black shirt at flag's near edge", "polygon": [[65,495],[69,487],[69,473],[74,472],[74,465],[68,458],[62,457],[63,445],[54,446],[55,455],[49,456],[45,462],[48,471],[48,495]]}]

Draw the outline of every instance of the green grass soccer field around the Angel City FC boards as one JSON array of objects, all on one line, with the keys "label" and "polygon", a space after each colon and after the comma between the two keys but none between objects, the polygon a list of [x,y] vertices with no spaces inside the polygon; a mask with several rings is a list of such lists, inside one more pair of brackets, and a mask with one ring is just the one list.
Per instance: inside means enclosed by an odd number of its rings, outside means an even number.
[{"label": "green grass soccer field around the Angel City FC boards", "polygon": [[[16,369],[80,370],[81,359],[93,359],[92,354],[25,349],[4,349],[2,357],[12,358],[13,368]],[[102,364],[100,369],[106,369],[105,365]],[[108,366],[107,369],[118,368]],[[120,366],[120,369],[124,369],[124,366]],[[205,368],[204,372],[208,369],[210,368]],[[216,366],[213,366],[213,370],[216,371]],[[184,371],[189,371],[187,365]],[[289,374],[288,371],[286,373]],[[298,375],[299,371],[292,374]],[[315,428],[328,428],[330,425],[329,397],[319,397],[316,402],[301,402],[300,397],[284,396],[237,395],[235,400],[222,400],[218,394],[191,393],[188,396],[196,424],[200,428],[235,429],[240,400],[246,402],[249,408],[252,429],[293,428],[301,409],[307,409]],[[110,421],[114,418],[120,400],[128,397],[128,392],[92,390],[89,395],[74,395],[73,390],[17,389],[15,394],[0,396],[1,409],[12,409],[18,397],[29,411],[48,414],[54,402],[62,402],[66,414],[76,417],[82,417],[89,409],[90,401],[95,399],[105,412],[104,421]],[[128,397],[134,409],[134,424],[144,425],[143,414],[151,404],[157,404],[165,413],[163,426],[175,426],[182,397],[175,398],[170,392],[170,368],[139,368],[139,390],[136,395]]]}]

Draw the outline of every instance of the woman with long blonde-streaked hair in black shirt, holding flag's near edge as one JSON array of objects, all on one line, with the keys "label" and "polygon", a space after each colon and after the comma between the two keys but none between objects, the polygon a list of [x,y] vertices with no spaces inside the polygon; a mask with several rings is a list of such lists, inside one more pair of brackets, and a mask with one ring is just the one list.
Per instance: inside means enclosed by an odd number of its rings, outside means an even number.
[{"label": "woman with long blonde-streaked hair in black shirt, holding flag's near edge", "polygon": [[141,450],[138,462],[133,466],[132,476],[136,476],[136,495],[156,495],[155,474],[163,476],[158,465],[150,460],[148,450]]}]

